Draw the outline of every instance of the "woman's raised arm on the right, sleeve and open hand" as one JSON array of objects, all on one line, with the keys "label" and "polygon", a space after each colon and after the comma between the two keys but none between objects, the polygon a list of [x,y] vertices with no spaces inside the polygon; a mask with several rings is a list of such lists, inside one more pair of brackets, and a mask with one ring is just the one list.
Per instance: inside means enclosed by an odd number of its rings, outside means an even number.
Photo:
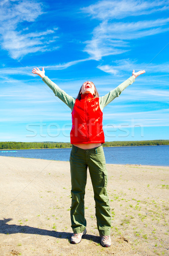
[{"label": "woman's raised arm on the right, sleeve and open hand", "polygon": [[115,99],[118,97],[121,92],[127,88],[130,84],[132,84],[136,77],[140,76],[141,74],[145,73],[145,70],[141,70],[135,73],[135,70],[132,71],[132,76],[130,76],[129,79],[124,81],[122,84],[118,85],[114,90],[111,90],[109,93],[107,93],[105,96],[99,97],[99,105],[101,108],[101,111]]}]

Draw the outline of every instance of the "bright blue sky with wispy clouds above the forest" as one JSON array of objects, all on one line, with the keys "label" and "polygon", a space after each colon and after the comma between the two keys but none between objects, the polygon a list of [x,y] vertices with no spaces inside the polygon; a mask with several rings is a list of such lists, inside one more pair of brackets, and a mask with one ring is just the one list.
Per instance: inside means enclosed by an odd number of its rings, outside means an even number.
[{"label": "bright blue sky with wispy clouds above the forest", "polygon": [[0,1],[0,141],[70,142],[71,111],[33,67],[76,97],[104,96],[105,141],[169,139],[169,1]]}]

